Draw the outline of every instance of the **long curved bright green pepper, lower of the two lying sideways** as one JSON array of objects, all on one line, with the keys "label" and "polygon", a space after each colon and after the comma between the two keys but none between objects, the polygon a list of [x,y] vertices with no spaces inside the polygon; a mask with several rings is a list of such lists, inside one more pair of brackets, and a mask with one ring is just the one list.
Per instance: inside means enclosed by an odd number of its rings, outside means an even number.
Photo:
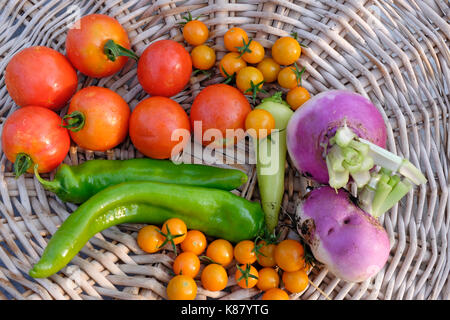
[{"label": "long curved bright green pepper, lower of the two lying sideways", "polygon": [[121,223],[161,225],[180,218],[189,229],[239,242],[264,233],[264,212],[231,192],[187,185],[131,181],[108,187],[80,205],[50,239],[33,278],[61,270],[96,233]]}]

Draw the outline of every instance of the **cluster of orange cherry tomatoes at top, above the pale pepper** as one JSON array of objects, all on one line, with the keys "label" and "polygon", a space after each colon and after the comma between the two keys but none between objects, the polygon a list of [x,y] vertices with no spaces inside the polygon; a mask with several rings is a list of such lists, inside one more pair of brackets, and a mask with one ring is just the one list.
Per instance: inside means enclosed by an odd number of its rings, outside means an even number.
[{"label": "cluster of orange cherry tomatoes at top, above the pale pepper", "polygon": [[[191,51],[194,68],[200,71],[211,69],[216,62],[216,53],[213,48],[204,44],[209,37],[208,27],[197,18],[193,19],[190,13],[183,19],[184,40],[194,46]],[[223,39],[225,48],[229,51],[219,61],[219,71],[225,78],[225,83],[235,80],[236,87],[244,94],[251,95],[255,101],[259,92],[265,92],[264,83],[277,81],[282,88],[289,89],[286,101],[293,110],[310,98],[308,90],[301,86],[301,76],[305,69],[299,70],[296,64],[302,52],[296,36],[277,39],[271,48],[272,57],[266,57],[266,50],[261,43],[250,38],[242,28],[229,29]],[[258,136],[264,137],[265,135]]]}]

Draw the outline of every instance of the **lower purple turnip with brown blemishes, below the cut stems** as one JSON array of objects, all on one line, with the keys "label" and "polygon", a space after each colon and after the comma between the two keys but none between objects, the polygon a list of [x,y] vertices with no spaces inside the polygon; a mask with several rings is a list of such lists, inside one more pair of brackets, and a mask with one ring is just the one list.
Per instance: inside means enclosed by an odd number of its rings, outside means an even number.
[{"label": "lower purple turnip with brown blemishes, below the cut stems", "polygon": [[364,281],[387,262],[386,230],[345,189],[323,186],[311,191],[298,205],[296,220],[314,257],[343,280]]}]

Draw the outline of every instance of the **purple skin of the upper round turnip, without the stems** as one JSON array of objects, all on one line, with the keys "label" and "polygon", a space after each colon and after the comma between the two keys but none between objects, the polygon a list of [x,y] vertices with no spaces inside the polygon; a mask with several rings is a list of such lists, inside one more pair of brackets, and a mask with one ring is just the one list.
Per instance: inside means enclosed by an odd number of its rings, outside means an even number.
[{"label": "purple skin of the upper round turnip, without the stems", "polygon": [[317,94],[298,108],[287,126],[287,148],[297,170],[319,183],[328,183],[325,148],[345,124],[360,138],[386,147],[386,126],[367,98],[346,90]]}]

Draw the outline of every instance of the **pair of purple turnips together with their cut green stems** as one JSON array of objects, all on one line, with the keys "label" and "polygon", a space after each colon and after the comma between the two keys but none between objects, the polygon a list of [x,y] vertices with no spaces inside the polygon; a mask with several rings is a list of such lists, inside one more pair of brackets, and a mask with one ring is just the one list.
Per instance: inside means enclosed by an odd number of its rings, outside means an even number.
[{"label": "pair of purple turnips together with their cut green stems", "polygon": [[[295,111],[287,147],[300,173],[322,184],[297,208],[298,230],[315,258],[340,278],[360,282],[389,256],[378,218],[427,180],[408,160],[384,149],[386,127],[376,107],[356,93],[320,93]],[[356,185],[358,198],[344,187]]]}]

